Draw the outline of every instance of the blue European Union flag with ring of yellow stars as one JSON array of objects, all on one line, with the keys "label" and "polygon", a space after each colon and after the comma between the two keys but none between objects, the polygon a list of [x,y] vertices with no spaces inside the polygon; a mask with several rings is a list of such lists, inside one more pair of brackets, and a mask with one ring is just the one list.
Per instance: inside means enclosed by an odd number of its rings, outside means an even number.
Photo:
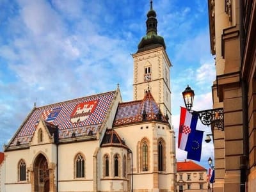
[{"label": "blue European Union flag with ring of yellow stars", "polygon": [[188,138],[189,146],[186,148],[186,151],[188,152],[187,158],[193,159],[195,161],[200,161],[201,159],[201,152],[202,152],[202,140],[204,131],[198,131],[194,130],[193,137]]}]

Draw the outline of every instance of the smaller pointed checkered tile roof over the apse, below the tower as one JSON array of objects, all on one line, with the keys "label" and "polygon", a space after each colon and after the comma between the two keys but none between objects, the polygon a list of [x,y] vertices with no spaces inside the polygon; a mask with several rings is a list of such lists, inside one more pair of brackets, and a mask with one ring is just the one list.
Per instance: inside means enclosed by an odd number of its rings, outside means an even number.
[{"label": "smaller pointed checkered tile roof over the apse, below the tower", "polygon": [[116,112],[113,126],[141,122],[143,113],[147,115],[146,120],[161,120],[168,123],[168,120],[161,114],[156,101],[148,91],[143,100],[120,103]]}]

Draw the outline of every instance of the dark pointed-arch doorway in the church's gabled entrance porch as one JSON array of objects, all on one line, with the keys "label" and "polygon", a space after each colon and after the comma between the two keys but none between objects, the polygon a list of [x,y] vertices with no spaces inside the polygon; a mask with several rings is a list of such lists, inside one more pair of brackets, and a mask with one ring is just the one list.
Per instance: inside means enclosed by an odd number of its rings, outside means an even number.
[{"label": "dark pointed-arch doorway in the church's gabled entrance porch", "polygon": [[34,186],[35,191],[38,192],[49,192],[50,182],[49,182],[49,167],[47,159],[43,154],[39,154],[34,163]]}]

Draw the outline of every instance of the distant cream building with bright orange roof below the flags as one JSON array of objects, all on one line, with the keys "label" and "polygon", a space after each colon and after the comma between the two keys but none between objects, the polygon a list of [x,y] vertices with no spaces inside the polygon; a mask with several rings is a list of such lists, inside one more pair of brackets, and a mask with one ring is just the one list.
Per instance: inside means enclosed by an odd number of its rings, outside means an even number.
[{"label": "distant cream building with bright orange roof below the flags", "polygon": [[194,161],[177,162],[177,191],[207,191],[207,170]]}]

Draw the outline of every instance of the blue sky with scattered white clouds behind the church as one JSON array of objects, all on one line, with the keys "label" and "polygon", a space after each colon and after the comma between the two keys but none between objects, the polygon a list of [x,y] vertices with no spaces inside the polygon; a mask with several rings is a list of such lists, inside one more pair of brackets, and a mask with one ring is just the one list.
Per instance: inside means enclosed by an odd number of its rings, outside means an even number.
[{"label": "blue sky with scattered white clouds behind the church", "polygon": [[[149,9],[150,0],[0,0],[0,144],[10,141],[35,102],[45,106],[109,92],[118,83],[123,101],[131,101],[131,54],[146,35]],[[188,84],[195,91],[193,109],[212,108],[216,72],[207,1],[154,0],[153,9],[172,63],[172,125],[178,134]],[[207,167],[212,152],[212,142],[203,142],[199,164]],[[177,161],[184,159],[177,149]]]}]

